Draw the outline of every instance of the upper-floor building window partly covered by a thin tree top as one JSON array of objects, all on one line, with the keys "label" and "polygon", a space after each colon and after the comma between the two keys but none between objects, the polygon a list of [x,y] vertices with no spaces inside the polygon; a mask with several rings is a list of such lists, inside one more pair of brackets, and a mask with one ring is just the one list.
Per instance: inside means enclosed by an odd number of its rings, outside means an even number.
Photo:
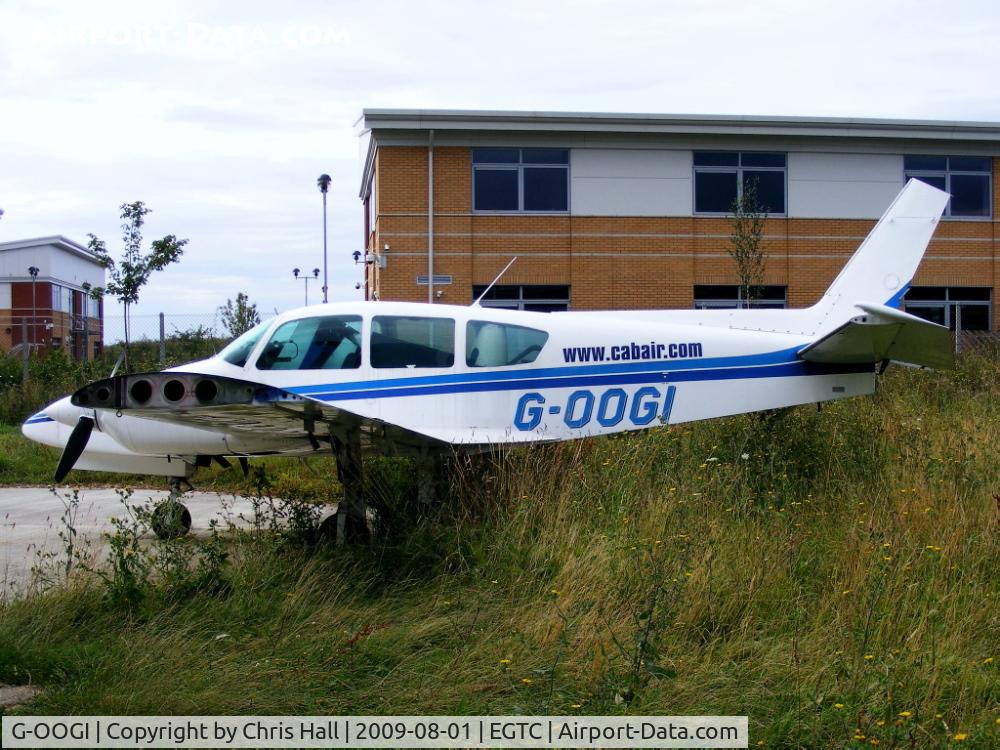
[{"label": "upper-floor building window partly covered by a thin tree top", "polygon": [[785,213],[785,163],[785,154],[695,151],[695,213],[731,213],[737,196],[751,183],[757,185],[765,213]]}]

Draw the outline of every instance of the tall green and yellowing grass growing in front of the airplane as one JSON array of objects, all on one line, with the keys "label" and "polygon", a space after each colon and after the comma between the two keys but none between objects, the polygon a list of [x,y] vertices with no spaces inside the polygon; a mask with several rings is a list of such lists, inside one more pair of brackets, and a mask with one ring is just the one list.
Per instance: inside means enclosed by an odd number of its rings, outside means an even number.
[{"label": "tall green and yellowing grass growing in front of the airplane", "polygon": [[[374,465],[384,535],[230,538],[224,589],[0,610],[49,713],[747,714],[751,746],[997,740],[1000,357],[872,398]],[[284,487],[283,489],[288,489]]]}]

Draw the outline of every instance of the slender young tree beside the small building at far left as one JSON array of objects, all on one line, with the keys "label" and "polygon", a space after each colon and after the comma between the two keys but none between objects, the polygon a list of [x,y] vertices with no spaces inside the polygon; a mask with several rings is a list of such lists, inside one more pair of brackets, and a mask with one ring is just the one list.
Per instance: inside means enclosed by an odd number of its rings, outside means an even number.
[{"label": "slender young tree beside the small building at far left", "polygon": [[146,214],[152,209],[146,208],[142,201],[123,203],[121,205],[122,219],[122,250],[121,261],[116,263],[108,254],[103,240],[89,234],[87,247],[97,257],[98,261],[111,276],[107,286],[96,286],[90,290],[90,296],[100,299],[105,294],[115,297],[125,307],[125,349],[124,371],[128,372],[129,346],[129,308],[139,301],[139,290],[149,281],[153,271],[162,271],[171,263],[176,263],[184,254],[187,240],[179,240],[168,234],[162,239],[153,240],[150,251],[142,254],[142,225]]}]

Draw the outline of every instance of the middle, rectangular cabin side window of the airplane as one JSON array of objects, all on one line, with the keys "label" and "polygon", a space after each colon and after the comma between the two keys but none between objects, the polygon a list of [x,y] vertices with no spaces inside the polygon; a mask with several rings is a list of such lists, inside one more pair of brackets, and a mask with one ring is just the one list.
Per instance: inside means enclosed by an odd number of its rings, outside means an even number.
[{"label": "middle, rectangular cabin side window of the airplane", "polygon": [[372,318],[372,367],[451,367],[455,321],[376,315]]}]

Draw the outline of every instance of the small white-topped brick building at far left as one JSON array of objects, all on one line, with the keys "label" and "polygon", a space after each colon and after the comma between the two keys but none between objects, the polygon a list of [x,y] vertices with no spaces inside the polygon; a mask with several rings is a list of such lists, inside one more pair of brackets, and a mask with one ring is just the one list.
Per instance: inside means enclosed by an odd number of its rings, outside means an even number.
[{"label": "small white-topped brick building at far left", "polygon": [[65,349],[95,356],[103,303],[87,290],[104,285],[104,267],[65,237],[0,242],[0,351]]}]

